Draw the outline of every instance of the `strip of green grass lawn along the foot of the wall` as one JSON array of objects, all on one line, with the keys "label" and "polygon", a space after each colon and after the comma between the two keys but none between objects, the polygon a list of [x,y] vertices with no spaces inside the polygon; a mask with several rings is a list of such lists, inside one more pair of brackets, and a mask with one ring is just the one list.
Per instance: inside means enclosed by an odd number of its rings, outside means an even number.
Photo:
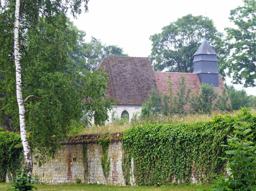
[{"label": "strip of green grass lawn along the foot of the wall", "polygon": [[[0,183],[0,191],[6,191],[10,185],[6,186],[5,183]],[[36,188],[38,191],[194,191],[197,188],[207,188],[207,185],[198,186],[192,185],[171,185],[160,187],[147,187],[147,186],[106,186],[100,184],[38,184]]]}]

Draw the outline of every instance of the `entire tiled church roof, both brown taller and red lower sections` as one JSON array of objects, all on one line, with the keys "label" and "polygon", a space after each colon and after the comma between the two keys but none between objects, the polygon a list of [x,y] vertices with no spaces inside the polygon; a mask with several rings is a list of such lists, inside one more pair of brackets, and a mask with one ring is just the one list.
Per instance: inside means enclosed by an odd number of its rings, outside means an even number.
[{"label": "entire tiled church roof, both brown taller and red lower sections", "polygon": [[[201,83],[196,73],[153,72],[150,58],[107,56],[103,58],[98,68],[104,67],[109,74],[106,96],[117,100],[117,104],[143,104],[154,84],[160,94],[169,94],[168,76],[171,76],[173,94],[177,93],[178,80],[186,76],[187,88],[191,93],[200,92]],[[218,75],[220,90],[225,87]]]}]

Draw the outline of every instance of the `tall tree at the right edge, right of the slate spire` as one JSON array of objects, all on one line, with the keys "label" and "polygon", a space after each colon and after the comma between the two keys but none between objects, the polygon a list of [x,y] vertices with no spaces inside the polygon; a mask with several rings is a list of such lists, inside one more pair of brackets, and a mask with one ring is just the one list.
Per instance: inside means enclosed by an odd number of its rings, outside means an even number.
[{"label": "tall tree at the right edge, right of the slate spire", "polygon": [[229,17],[237,28],[225,28],[227,53],[230,57],[222,68],[228,68],[233,83],[256,86],[256,1],[244,0],[244,6],[231,10]]}]

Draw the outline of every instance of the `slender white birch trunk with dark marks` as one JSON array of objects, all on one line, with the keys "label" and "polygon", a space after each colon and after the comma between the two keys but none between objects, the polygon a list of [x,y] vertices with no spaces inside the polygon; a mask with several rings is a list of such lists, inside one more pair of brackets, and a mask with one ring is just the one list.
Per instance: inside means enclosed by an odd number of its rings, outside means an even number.
[{"label": "slender white birch trunk with dark marks", "polygon": [[21,89],[21,67],[20,67],[20,45],[19,45],[19,12],[20,0],[16,0],[15,5],[15,21],[14,21],[14,59],[16,66],[16,96],[19,105],[19,118],[20,118],[20,136],[24,150],[24,163],[27,165],[28,174],[32,172],[32,156],[31,148],[28,145],[26,124],[25,124],[25,105],[22,98]]}]

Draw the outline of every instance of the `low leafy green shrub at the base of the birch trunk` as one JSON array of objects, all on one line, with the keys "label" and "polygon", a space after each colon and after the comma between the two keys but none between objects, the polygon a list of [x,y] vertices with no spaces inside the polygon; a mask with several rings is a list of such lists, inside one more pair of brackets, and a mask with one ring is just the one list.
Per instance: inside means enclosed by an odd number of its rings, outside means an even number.
[{"label": "low leafy green shrub at the base of the birch trunk", "polygon": [[27,174],[28,168],[26,168],[26,164],[23,165],[23,167],[20,170],[16,170],[15,176],[13,178],[13,184],[8,190],[11,191],[33,191],[36,187],[32,184],[38,184],[36,181],[39,180],[38,176],[35,175],[28,175]]}]

